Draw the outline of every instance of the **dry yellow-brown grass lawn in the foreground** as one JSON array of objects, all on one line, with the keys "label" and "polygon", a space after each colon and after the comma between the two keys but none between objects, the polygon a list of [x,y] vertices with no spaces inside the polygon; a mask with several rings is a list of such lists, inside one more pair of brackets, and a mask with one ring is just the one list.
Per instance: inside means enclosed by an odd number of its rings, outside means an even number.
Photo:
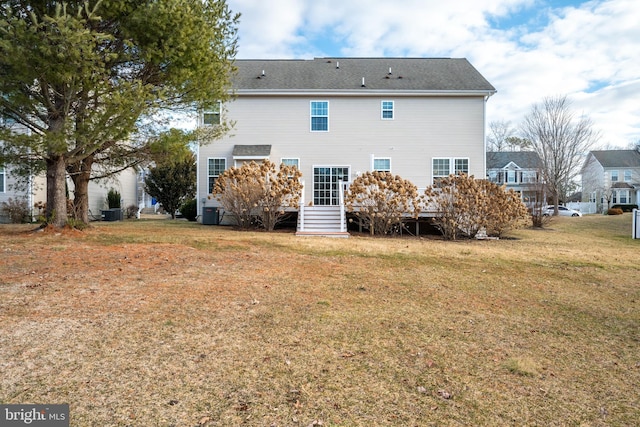
[{"label": "dry yellow-brown grass lawn in the foreground", "polygon": [[72,426],[640,424],[631,214],[497,241],[0,226],[0,403]]}]

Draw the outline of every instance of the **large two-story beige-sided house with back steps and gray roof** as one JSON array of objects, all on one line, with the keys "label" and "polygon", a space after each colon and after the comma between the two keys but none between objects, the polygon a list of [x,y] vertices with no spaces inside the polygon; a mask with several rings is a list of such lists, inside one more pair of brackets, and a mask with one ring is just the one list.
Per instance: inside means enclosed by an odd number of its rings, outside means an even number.
[{"label": "large two-story beige-sided house with back steps and gray roof", "polygon": [[449,174],[485,176],[485,105],[496,90],[466,59],[235,64],[235,99],[200,118],[234,128],[200,145],[199,212],[218,206],[211,191],[225,169],[266,158],[303,174],[299,234],[344,232],[341,194],[365,171],[390,171],[421,190]]}]

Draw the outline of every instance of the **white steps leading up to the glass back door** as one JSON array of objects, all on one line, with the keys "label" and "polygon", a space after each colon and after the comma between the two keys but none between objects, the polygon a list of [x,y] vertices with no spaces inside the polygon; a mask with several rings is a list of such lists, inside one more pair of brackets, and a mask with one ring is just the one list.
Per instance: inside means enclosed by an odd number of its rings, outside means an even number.
[{"label": "white steps leading up to the glass back door", "polygon": [[296,236],[349,237],[340,206],[300,206]]}]

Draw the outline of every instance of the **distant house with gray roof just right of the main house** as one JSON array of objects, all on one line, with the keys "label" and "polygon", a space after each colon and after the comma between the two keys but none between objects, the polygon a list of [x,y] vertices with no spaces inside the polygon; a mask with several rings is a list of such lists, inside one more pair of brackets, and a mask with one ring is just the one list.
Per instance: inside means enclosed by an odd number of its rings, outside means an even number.
[{"label": "distant house with gray roof just right of the main house", "polygon": [[540,157],[533,151],[487,152],[487,178],[520,194],[528,207],[544,202]]}]

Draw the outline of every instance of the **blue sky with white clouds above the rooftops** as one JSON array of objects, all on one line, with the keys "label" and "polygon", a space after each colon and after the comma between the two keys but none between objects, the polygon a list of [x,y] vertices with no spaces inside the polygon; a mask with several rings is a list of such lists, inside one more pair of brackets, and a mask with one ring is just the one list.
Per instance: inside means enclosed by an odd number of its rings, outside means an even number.
[{"label": "blue sky with white clouds above the rooftops", "polygon": [[488,121],[566,95],[602,147],[640,140],[638,0],[227,0],[241,59],[467,58],[498,90]]}]

